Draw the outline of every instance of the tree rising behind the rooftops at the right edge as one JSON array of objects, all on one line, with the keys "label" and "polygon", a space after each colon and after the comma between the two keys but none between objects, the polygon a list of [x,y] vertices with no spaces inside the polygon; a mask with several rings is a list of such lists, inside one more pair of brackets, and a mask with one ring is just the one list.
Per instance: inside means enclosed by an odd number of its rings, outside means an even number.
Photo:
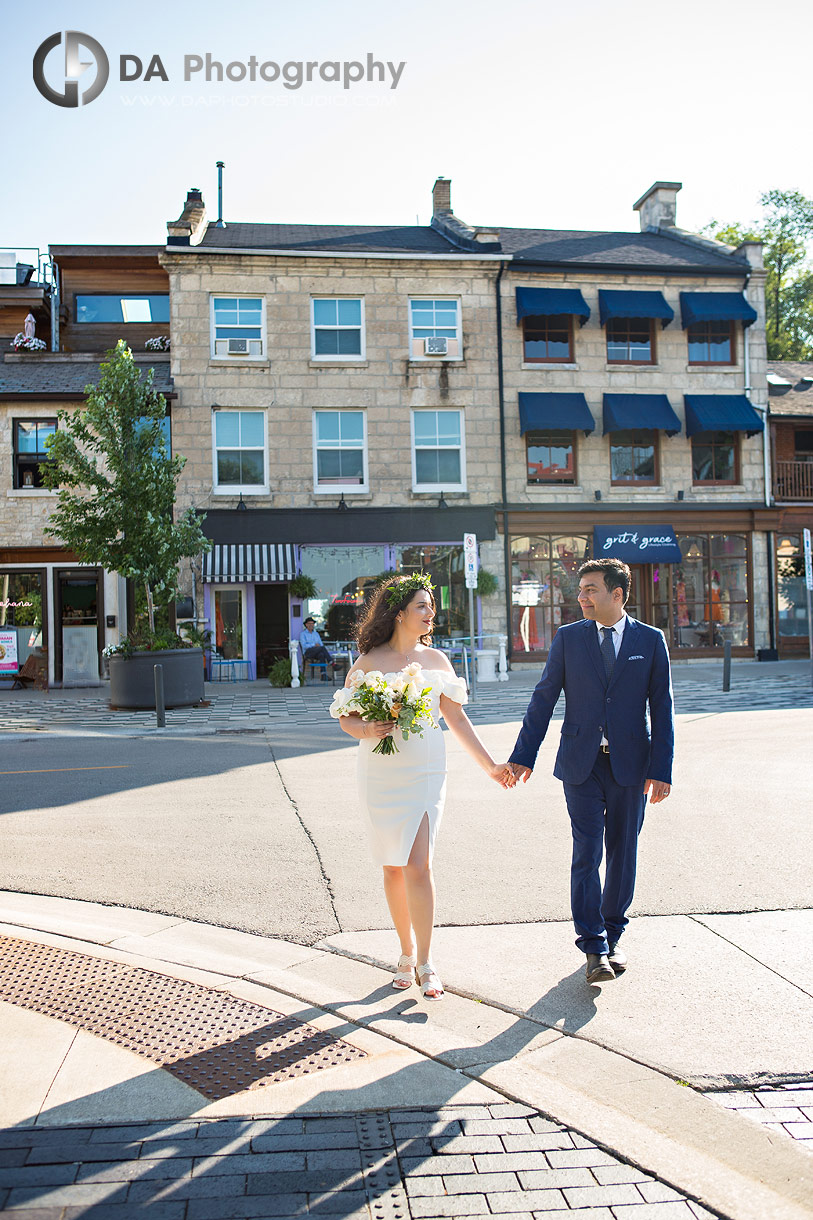
[{"label": "tree rising behind the rooftops at the right edge", "polygon": [[768,356],[813,360],[813,271],[806,266],[813,238],[813,200],[798,190],[767,190],[759,203],[761,222],[712,221],[704,232],[726,245],[764,243]]}]

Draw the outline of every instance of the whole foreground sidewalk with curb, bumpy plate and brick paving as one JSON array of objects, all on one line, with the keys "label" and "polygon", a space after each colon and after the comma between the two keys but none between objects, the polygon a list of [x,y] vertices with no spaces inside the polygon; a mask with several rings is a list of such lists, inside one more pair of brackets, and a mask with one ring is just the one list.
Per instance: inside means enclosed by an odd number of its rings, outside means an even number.
[{"label": "whole foreground sidewalk with curb, bumpy plate and brick paving", "polygon": [[29,1220],[813,1215],[811,911],[641,917],[601,989],[568,925],[441,928],[441,1004],[392,991],[391,933],[0,920],[0,1207]]}]

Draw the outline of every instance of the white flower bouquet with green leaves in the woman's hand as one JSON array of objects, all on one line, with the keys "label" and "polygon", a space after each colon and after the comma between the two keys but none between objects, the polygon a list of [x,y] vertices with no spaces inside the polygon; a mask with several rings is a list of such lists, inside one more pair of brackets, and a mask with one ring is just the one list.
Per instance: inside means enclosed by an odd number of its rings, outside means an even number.
[{"label": "white flower bouquet with green leaves in the woman's hand", "polygon": [[[425,728],[437,727],[432,717],[431,687],[420,684],[421,667],[413,661],[389,681],[381,670],[363,673],[355,670],[350,673],[350,684],[333,695],[330,712],[333,720],[350,716],[353,712],[363,720],[394,720],[400,736],[408,741],[410,733],[424,736]],[[392,736],[382,737],[374,754],[397,754]]]}]

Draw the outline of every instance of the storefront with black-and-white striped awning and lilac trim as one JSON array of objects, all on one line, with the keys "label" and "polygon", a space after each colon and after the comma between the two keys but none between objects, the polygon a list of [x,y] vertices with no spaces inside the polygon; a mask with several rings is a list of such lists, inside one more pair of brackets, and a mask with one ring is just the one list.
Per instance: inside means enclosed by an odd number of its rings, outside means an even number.
[{"label": "storefront with black-and-white striped awning and lilac trim", "polygon": [[[425,571],[437,604],[436,638],[466,634],[463,534],[496,534],[491,509],[214,510],[204,529],[212,550],[201,567],[204,617],[217,654],[265,676],[308,615],[325,640],[350,639],[381,577]],[[291,597],[298,573],[313,598]]]}]

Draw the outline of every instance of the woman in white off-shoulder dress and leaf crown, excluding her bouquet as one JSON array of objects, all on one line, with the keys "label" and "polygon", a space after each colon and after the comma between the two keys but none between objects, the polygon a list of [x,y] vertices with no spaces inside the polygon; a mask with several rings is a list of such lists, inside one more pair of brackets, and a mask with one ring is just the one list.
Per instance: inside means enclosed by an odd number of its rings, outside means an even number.
[{"label": "woman in white off-shoulder dress and leaf crown, excluding her bouquet", "polygon": [[[361,654],[353,673],[380,670],[392,675],[417,662],[419,683],[431,688],[432,716],[443,716],[460,744],[486,773],[514,786],[508,764],[494,762],[463,710],[466,688],[444,653],[431,647],[435,598],[427,575],[394,576],[376,589],[356,630]],[[361,805],[369,815],[372,852],[383,866],[389,914],[400,941],[393,987],[411,986],[415,974],[427,999],[441,999],[443,987],[432,966],[435,882],[432,854],[446,798],[446,745],[437,723],[424,736],[398,742],[398,753],[374,754],[382,737],[392,733],[387,721],[365,721],[344,715],[339,723],[359,741],[358,781]]]}]

